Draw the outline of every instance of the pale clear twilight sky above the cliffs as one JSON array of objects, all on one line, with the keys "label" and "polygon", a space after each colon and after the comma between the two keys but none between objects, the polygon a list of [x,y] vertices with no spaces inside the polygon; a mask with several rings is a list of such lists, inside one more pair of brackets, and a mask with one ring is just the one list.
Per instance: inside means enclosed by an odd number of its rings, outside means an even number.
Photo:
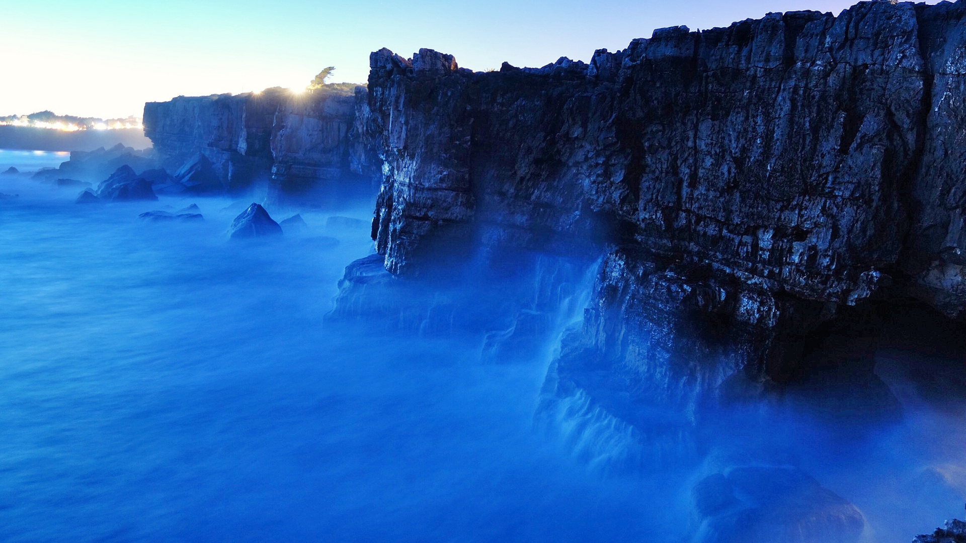
[{"label": "pale clear twilight sky above the cliffs", "polygon": [[[0,0],[0,115],[140,117],[145,101],[364,83],[369,52],[420,47],[461,67],[586,62],[655,28],[769,12],[838,14],[850,0]],[[931,2],[930,2],[931,3]]]}]

